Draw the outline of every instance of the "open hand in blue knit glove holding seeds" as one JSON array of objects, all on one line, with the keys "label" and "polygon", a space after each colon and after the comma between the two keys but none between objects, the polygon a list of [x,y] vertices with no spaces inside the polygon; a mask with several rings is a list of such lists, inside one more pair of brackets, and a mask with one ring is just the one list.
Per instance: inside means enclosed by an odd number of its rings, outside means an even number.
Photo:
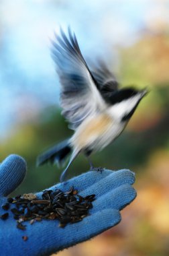
[{"label": "open hand in blue knit glove holding seeds", "polygon": [[[25,176],[26,164],[23,158],[12,155],[6,158],[0,165],[0,205],[13,191]],[[13,214],[9,212],[7,220],[0,220],[0,254],[2,256],[20,255],[50,255],[76,245],[82,241],[100,234],[115,226],[121,221],[120,210],[128,205],[136,196],[131,187],[135,177],[129,170],[103,170],[103,172],[90,171],[74,177],[64,183],[54,185],[50,189],[68,191],[74,185],[74,189],[82,196],[95,194],[93,208],[90,216],[81,222],[67,224],[65,228],[58,227],[58,220],[42,220],[27,225],[26,230],[16,228]],[[41,192],[37,193],[38,197]],[[0,206],[1,208],[1,206]],[[0,209],[0,215],[6,211]],[[22,236],[27,236],[23,241]]]}]

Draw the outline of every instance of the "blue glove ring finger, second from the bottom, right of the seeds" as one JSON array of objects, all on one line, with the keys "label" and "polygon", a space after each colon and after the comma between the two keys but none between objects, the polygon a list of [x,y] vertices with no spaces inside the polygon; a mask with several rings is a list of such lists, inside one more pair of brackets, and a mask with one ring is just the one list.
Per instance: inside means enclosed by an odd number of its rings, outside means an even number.
[{"label": "blue glove ring finger, second from the bottom, right of the seeds", "polygon": [[107,208],[122,210],[135,199],[136,195],[137,193],[131,185],[121,185],[93,201],[93,208],[90,213],[100,212]]}]

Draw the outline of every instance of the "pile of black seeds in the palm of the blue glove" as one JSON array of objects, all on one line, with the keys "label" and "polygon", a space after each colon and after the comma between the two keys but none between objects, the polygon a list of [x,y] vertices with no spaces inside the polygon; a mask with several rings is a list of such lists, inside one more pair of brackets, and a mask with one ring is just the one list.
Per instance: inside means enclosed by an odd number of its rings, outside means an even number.
[{"label": "pile of black seeds in the palm of the blue glove", "polygon": [[[64,227],[68,223],[80,222],[84,217],[89,215],[89,209],[93,207],[92,201],[95,195],[87,195],[82,197],[78,195],[78,191],[73,187],[66,192],[60,189],[45,190],[42,193],[42,199],[25,199],[17,195],[14,199],[8,201],[15,203],[15,208],[11,209],[17,220],[17,228],[25,229],[24,225],[20,225],[21,220],[40,221],[42,219],[60,221],[60,227]],[[3,206],[6,207],[6,206]]]}]

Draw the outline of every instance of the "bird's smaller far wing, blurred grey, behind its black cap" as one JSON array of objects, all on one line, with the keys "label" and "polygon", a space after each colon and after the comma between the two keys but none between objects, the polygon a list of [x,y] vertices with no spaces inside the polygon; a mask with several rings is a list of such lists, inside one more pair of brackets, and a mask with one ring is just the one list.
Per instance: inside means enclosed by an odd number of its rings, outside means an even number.
[{"label": "bird's smaller far wing, blurred grey, behind its black cap", "polygon": [[97,66],[93,67],[93,76],[99,84],[99,91],[101,95],[107,101],[107,98],[111,96],[112,92],[118,90],[118,82],[111,71],[109,71],[105,62],[99,60]]}]

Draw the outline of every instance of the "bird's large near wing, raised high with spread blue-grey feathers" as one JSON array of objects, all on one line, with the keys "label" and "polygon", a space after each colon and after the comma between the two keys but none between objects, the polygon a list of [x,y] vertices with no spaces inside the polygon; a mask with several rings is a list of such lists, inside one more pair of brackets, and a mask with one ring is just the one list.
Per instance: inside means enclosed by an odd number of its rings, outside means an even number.
[{"label": "bird's large near wing, raised high with spread blue-grey feathers", "polygon": [[75,34],[62,30],[52,42],[52,55],[62,85],[60,93],[62,115],[76,129],[82,121],[105,106],[99,85],[82,57]]}]

